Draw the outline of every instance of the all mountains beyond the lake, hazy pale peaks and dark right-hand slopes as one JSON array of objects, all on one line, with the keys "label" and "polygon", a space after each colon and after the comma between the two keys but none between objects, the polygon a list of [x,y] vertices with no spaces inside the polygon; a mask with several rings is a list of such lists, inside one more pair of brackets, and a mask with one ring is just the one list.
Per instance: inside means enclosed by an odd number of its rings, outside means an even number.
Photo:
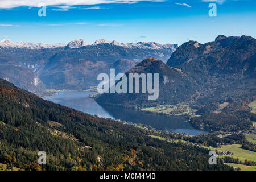
[{"label": "all mountains beyond the lake, hazy pale peaks and dark right-hand slopes", "polygon": [[80,39],[56,48],[1,47],[0,77],[44,94],[47,89],[91,88],[100,82],[97,75],[109,75],[110,68],[117,69],[116,74],[159,73],[158,100],[148,100],[147,94],[101,94],[96,101],[137,109],[187,105],[199,116],[189,116],[189,121],[200,129],[251,127],[249,121],[256,118],[248,107],[256,95],[254,38],[220,35],[213,42],[189,41],[177,48],[157,43],[117,44],[106,40],[88,44]]}]

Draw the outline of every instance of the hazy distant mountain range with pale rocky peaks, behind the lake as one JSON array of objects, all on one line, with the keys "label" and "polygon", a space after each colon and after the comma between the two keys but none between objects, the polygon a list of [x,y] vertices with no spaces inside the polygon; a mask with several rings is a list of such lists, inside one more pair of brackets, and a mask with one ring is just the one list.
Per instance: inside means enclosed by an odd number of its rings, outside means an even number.
[{"label": "hazy distant mountain range with pale rocky peaks, behind the lake", "polygon": [[[110,67],[122,67],[120,71],[125,72],[150,56],[167,61],[176,48],[177,44],[125,44],[105,39],[94,43],[77,39],[67,45],[1,40],[0,76],[34,93],[42,93],[46,88],[81,90],[96,86],[97,75],[109,73]],[[6,72],[6,66],[13,72]]]}]

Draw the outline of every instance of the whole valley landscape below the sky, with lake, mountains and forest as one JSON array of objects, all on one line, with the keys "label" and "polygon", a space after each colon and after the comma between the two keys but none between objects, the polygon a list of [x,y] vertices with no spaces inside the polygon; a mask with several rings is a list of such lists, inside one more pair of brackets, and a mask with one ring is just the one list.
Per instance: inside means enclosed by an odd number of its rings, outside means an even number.
[{"label": "whole valley landscape below the sky, with lake, mountains and forest", "polygon": [[[211,170],[214,150],[214,170],[254,170],[255,39],[218,36],[176,51],[152,44],[75,40],[65,47],[1,49],[2,169]],[[163,49],[171,56],[166,63],[157,57]],[[32,65],[27,55],[41,59]],[[159,98],[97,93],[97,75],[109,76],[110,69],[159,73]],[[43,168],[35,163],[40,147],[49,155]]]}]

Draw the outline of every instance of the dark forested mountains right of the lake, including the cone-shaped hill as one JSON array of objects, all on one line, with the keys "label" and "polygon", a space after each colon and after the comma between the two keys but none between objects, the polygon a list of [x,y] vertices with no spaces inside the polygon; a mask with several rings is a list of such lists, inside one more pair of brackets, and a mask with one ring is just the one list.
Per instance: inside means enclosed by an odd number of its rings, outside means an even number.
[{"label": "dark forested mountains right of the lake, including the cone-shaped hill", "polygon": [[178,47],[166,64],[151,57],[126,72],[159,73],[158,100],[148,100],[147,94],[105,93],[96,101],[137,109],[188,105],[187,111],[195,109],[199,116],[189,116],[189,121],[200,129],[249,129],[249,121],[255,119],[248,106],[256,96],[255,58],[256,40],[250,36],[220,35],[205,44],[189,41]]}]

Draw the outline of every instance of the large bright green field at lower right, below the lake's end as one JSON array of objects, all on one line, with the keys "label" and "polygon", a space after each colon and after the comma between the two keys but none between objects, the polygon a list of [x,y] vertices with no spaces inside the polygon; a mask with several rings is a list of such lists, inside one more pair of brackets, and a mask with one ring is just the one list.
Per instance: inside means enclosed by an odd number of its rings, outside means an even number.
[{"label": "large bright green field at lower right, below the lake's end", "polygon": [[[241,144],[232,144],[232,145],[226,145],[221,146],[222,148],[217,148],[218,151],[227,152],[230,151],[233,153],[233,155],[228,155],[230,157],[233,157],[234,159],[239,159],[241,162],[245,162],[245,159],[256,161],[256,152],[245,150],[241,148]],[[216,148],[209,148],[205,147],[210,150],[215,150]],[[220,158],[223,158],[225,155],[221,155]]]}]

